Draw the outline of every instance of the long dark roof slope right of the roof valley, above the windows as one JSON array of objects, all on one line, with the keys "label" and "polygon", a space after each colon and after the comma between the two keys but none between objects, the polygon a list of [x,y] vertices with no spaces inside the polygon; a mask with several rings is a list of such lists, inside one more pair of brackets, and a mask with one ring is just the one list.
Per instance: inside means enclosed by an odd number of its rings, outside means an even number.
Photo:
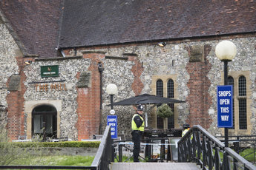
[{"label": "long dark roof slope right of the roof valley, above the windows", "polygon": [[59,48],[256,31],[256,1],[65,0]]}]

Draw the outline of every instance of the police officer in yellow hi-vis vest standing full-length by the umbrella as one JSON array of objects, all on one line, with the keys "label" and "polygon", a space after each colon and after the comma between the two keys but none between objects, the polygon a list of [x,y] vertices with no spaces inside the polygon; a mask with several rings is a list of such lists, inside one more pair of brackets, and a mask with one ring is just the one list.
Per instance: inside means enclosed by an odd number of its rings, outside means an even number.
[{"label": "police officer in yellow hi-vis vest standing full-length by the umbrella", "polygon": [[139,105],[137,106],[137,113],[134,114],[132,120],[131,120],[131,135],[132,140],[134,142],[134,162],[140,162],[139,161],[139,155],[140,155],[140,141],[142,137],[142,133],[144,132],[144,119],[142,118],[143,114],[143,106]]}]

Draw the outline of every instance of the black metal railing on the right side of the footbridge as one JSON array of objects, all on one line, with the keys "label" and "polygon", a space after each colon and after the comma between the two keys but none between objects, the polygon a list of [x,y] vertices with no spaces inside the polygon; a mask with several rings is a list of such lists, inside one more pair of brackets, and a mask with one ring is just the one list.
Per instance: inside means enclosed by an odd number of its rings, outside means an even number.
[{"label": "black metal railing on the right side of the footbridge", "polygon": [[256,169],[201,126],[193,126],[178,142],[178,161],[194,162],[201,169]]}]

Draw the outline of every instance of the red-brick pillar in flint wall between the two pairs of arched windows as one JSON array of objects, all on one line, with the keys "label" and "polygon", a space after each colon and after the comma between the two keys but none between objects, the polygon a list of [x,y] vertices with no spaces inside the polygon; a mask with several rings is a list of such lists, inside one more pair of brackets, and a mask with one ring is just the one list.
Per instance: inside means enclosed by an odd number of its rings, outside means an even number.
[{"label": "red-brick pillar in flint wall between the two pairs of arched windows", "polygon": [[[188,50],[188,55],[191,57],[191,49]],[[208,129],[212,123],[212,120],[208,114],[208,110],[211,106],[211,97],[209,95],[209,87],[211,82],[207,77],[211,64],[206,59],[209,55],[211,47],[205,45],[203,47],[203,58],[202,61],[188,62],[186,70],[190,75],[188,81],[188,89],[190,93],[188,95],[189,103],[189,115],[186,123],[190,126],[200,125],[205,129]]]}]

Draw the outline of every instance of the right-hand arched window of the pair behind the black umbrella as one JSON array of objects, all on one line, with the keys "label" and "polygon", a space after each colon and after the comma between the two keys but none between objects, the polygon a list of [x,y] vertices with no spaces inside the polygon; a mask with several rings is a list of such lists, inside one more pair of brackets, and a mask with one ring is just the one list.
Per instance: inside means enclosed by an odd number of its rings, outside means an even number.
[{"label": "right-hand arched window of the pair behind the black umbrella", "polygon": [[[167,98],[174,98],[174,81],[169,79],[167,82]],[[172,112],[174,112],[174,103],[169,103]],[[168,129],[174,128],[174,115],[168,118]]]}]

